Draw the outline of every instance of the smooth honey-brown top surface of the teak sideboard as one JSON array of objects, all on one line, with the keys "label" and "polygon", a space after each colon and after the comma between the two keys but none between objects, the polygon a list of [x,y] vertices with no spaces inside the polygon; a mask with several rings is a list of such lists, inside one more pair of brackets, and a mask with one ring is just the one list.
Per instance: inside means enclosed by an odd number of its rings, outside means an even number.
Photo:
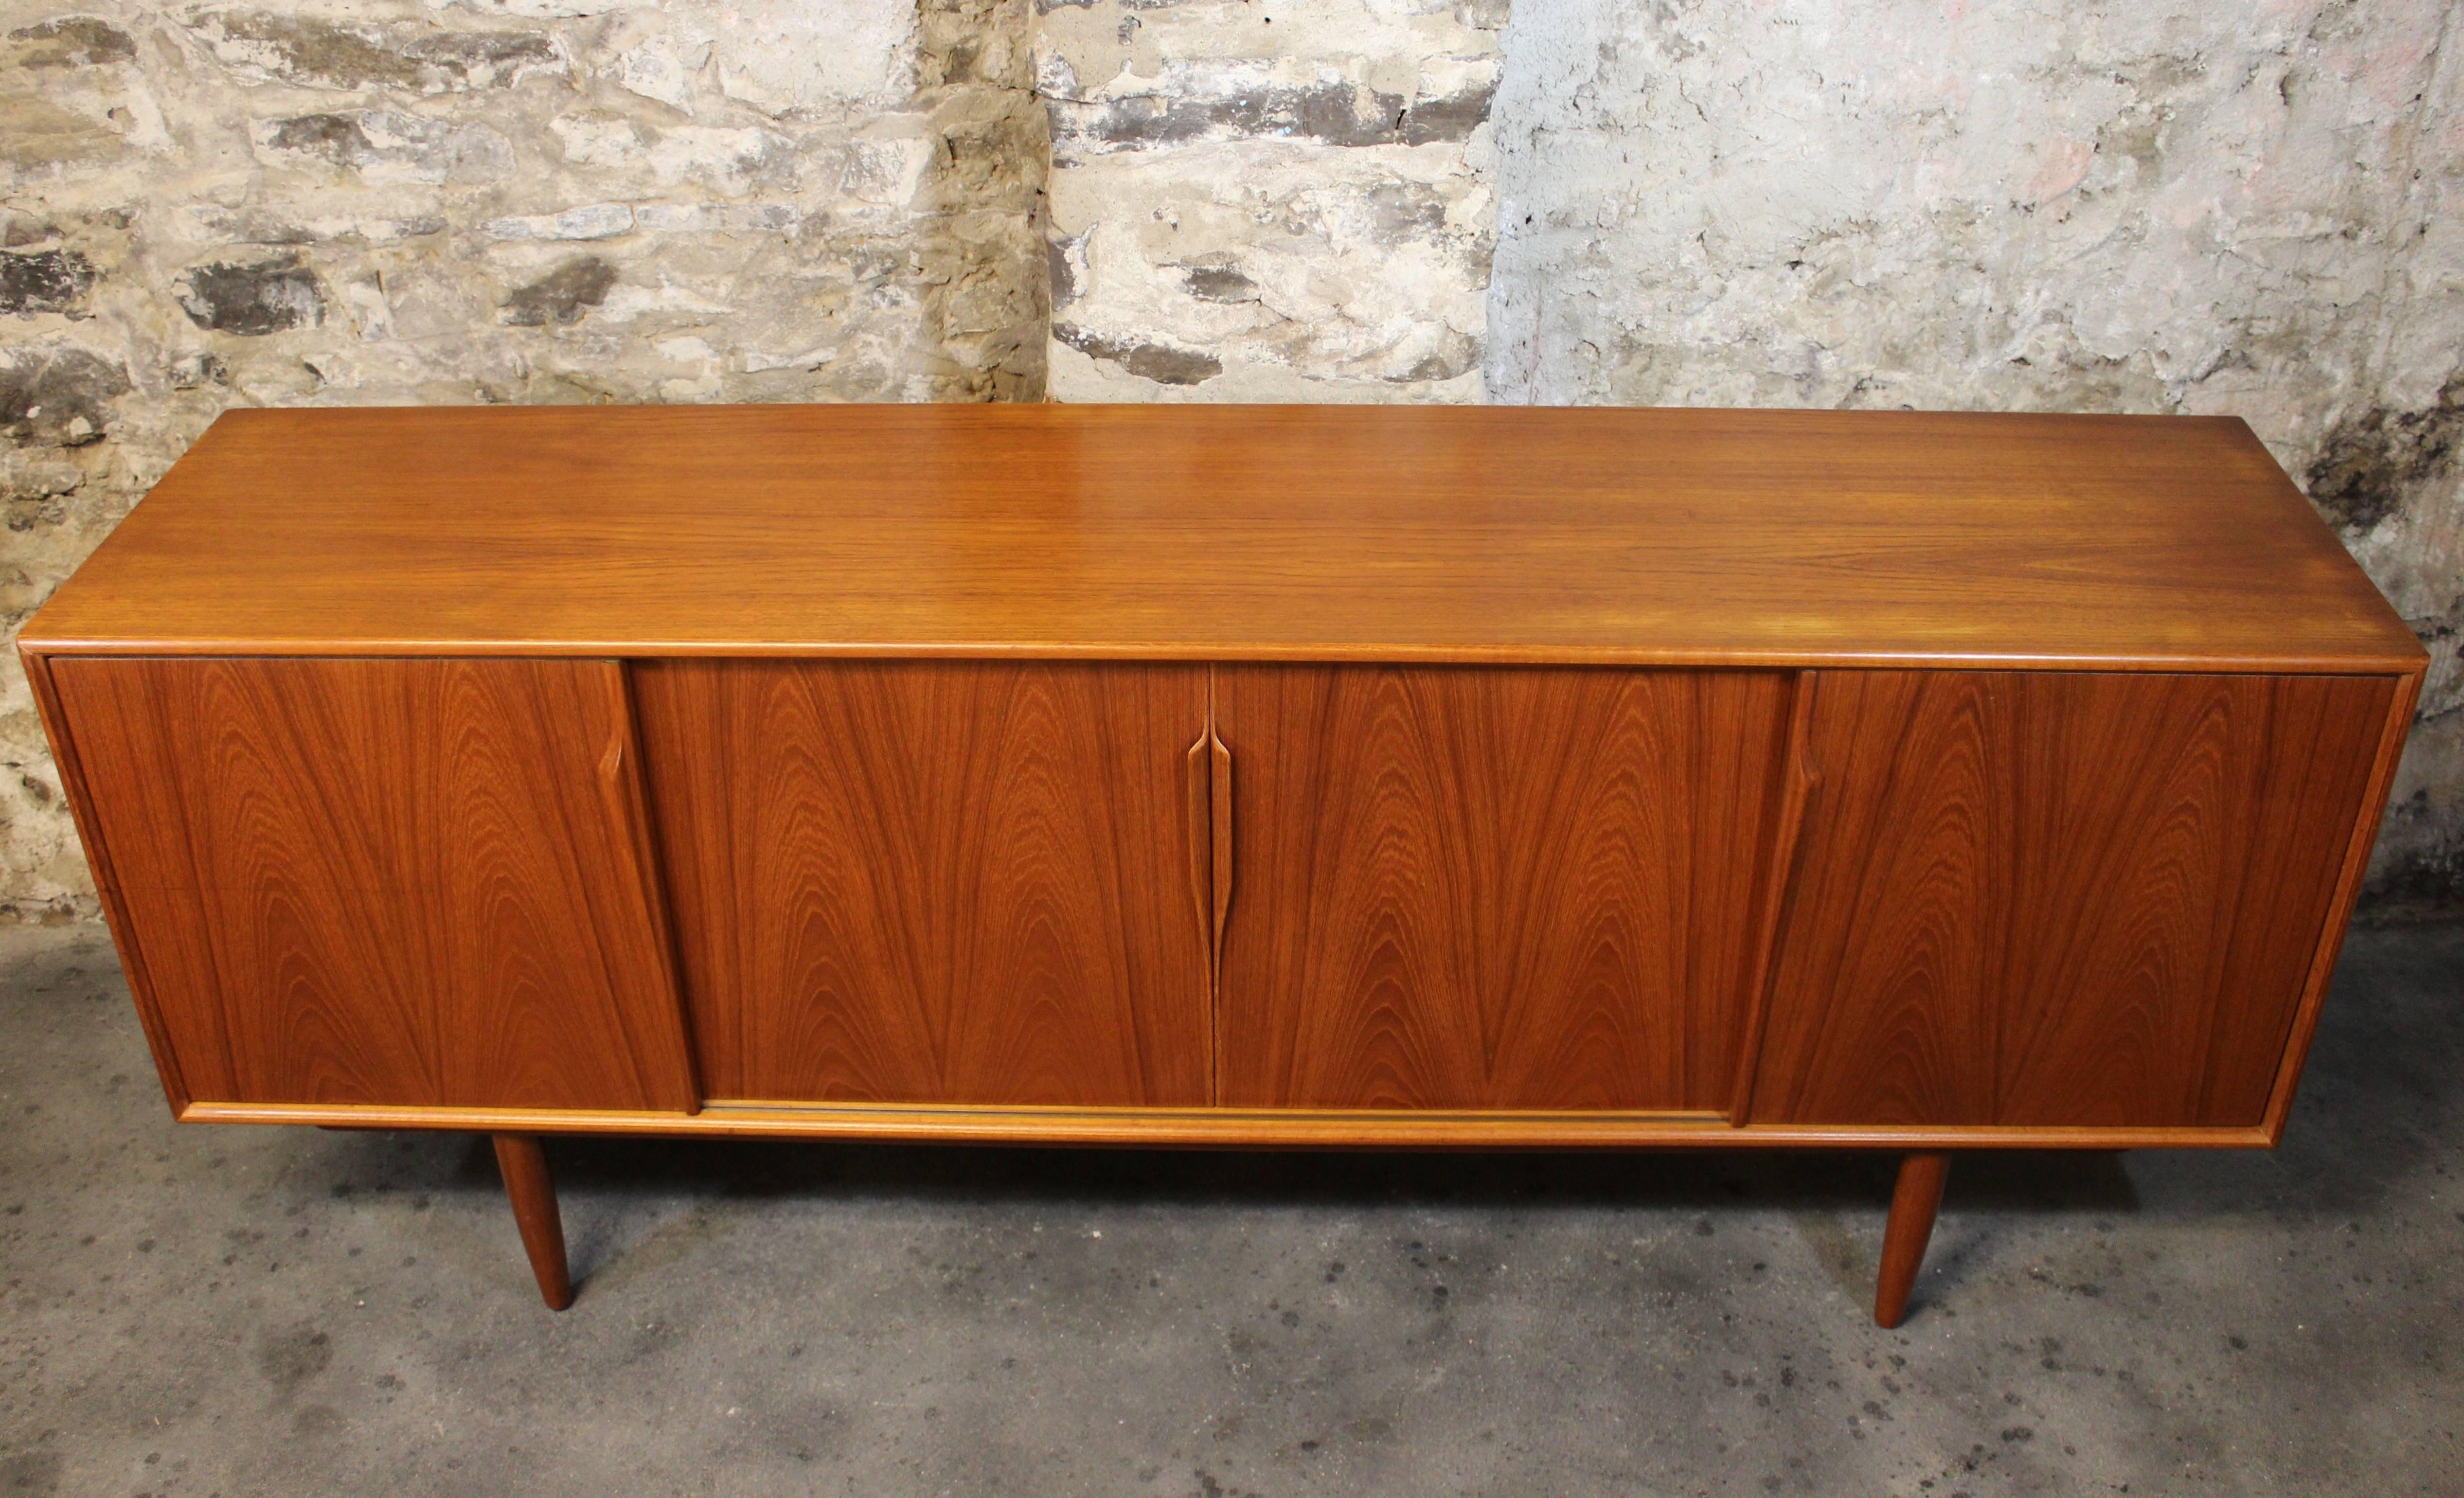
[{"label": "smooth honey-brown top surface of the teak sideboard", "polygon": [[232,411],[25,628],[113,653],[2415,670],[2237,419]]}]

